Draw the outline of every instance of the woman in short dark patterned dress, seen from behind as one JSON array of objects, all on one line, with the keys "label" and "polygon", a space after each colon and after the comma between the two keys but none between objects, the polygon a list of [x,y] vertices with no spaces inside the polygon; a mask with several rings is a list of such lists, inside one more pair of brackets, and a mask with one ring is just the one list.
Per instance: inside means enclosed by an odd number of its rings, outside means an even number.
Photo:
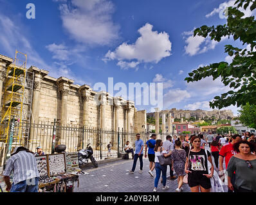
[{"label": "woman in short dark patterned dress, seen from behind", "polygon": [[172,170],[175,170],[176,174],[178,175],[178,188],[176,192],[182,192],[183,188],[183,177],[186,175],[185,173],[185,162],[186,162],[186,151],[181,149],[181,141],[175,141],[175,149],[172,151],[170,155],[172,158]]}]

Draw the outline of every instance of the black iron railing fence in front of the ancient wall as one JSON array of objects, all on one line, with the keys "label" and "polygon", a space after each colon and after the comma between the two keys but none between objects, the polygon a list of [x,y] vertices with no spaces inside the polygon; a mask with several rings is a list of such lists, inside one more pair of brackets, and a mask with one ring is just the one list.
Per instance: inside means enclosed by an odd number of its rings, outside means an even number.
[{"label": "black iron railing fence in front of the ancient wall", "polygon": [[[7,125],[1,124],[1,130],[5,130]],[[15,132],[21,130],[21,138],[17,138]],[[140,133],[140,138],[145,143],[152,133]],[[6,142],[5,132],[0,133],[0,142],[5,142],[9,147],[9,140]],[[158,138],[165,140],[164,135]],[[85,127],[77,125],[61,125],[56,122],[15,122],[14,137],[12,147],[24,146],[35,152],[36,147],[41,146],[45,154],[51,154],[55,145],[66,145],[67,152],[77,152],[79,149],[86,149],[90,143],[94,151],[96,160],[105,158],[118,158],[118,153],[123,151],[127,141],[135,147],[136,133],[127,133],[123,129],[113,131],[111,129],[100,129],[96,127]],[[107,145],[111,142],[111,152]]]}]

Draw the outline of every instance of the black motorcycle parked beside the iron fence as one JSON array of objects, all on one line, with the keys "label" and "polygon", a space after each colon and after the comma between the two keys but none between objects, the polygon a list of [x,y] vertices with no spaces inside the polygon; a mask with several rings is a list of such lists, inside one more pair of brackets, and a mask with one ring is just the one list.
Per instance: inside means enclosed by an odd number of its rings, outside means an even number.
[{"label": "black motorcycle parked beside the iron fence", "polygon": [[80,168],[86,165],[89,159],[91,160],[91,163],[93,163],[95,167],[98,167],[98,162],[93,157],[93,148],[91,148],[90,144],[91,143],[88,143],[86,149],[80,149],[77,153],[78,163]]}]

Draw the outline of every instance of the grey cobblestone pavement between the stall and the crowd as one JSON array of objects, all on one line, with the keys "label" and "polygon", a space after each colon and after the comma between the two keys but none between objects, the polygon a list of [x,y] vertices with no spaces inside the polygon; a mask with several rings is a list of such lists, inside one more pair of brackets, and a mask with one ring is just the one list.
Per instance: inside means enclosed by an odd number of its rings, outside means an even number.
[{"label": "grey cobblestone pavement between the stall and the crowd", "polygon": [[[84,169],[89,174],[79,176],[79,187],[75,192],[152,192],[154,178],[148,173],[149,160],[143,159],[143,172],[138,173],[140,161],[137,161],[134,174],[129,173],[133,160],[118,160],[111,163],[100,164],[98,168],[87,167]],[[154,175],[156,173],[154,171]],[[169,167],[167,168],[167,177]],[[160,178],[161,181],[161,178]],[[158,192],[175,192],[178,187],[177,179],[167,180],[169,190],[161,190],[163,185],[159,181]],[[183,192],[190,192],[188,184],[183,185]]]}]

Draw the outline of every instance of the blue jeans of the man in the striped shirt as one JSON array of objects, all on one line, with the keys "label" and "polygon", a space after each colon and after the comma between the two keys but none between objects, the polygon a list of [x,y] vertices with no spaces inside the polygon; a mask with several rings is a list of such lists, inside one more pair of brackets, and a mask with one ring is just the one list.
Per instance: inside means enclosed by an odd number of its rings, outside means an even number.
[{"label": "blue jeans of the man in the striped shirt", "polygon": [[[33,183],[33,179],[35,179]],[[31,185],[27,184],[27,180],[21,181],[17,184],[12,184],[10,192],[38,192],[39,177],[33,179],[27,179]]]}]

